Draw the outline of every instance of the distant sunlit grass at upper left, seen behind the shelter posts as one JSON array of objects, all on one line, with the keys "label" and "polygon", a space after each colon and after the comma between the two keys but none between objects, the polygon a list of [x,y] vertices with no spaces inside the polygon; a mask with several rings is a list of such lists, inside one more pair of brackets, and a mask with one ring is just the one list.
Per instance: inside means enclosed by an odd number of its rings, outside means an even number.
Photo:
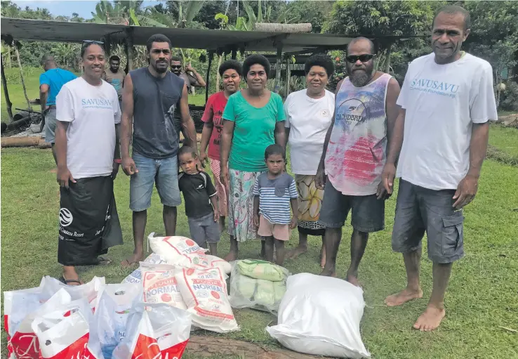
[{"label": "distant sunlit grass at upper left, seen behind the shelter posts", "polygon": [[[43,72],[43,68],[34,68],[27,67],[24,68],[24,79],[25,79],[25,87],[27,89],[27,96],[29,100],[34,100],[34,98],[39,98],[39,75]],[[9,91],[9,98],[11,99],[11,103],[13,103],[13,115],[15,115],[18,110],[15,110],[15,107],[18,108],[27,108],[27,101],[25,100],[25,96],[23,95],[23,88],[20,82],[20,72],[18,71],[18,67],[8,69],[6,68],[6,77],[17,79],[19,84],[7,84]],[[9,81],[9,80],[8,80]],[[6,110],[6,99],[4,97],[4,91],[1,91],[1,121],[9,122],[9,117],[7,115]],[[205,104],[205,91],[201,89],[197,89],[196,96],[189,96],[189,103],[191,105],[204,105]],[[39,105],[32,105],[33,111],[39,111]]]}]

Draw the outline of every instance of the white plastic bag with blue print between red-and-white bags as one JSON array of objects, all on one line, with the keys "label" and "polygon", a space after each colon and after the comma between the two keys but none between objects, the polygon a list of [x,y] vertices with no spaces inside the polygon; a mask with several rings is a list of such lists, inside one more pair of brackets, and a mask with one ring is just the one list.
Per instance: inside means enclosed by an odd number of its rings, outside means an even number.
[{"label": "white plastic bag with blue print between red-and-white bags", "polygon": [[126,337],[129,313],[141,298],[138,284],[106,285],[102,289],[91,327],[105,359],[112,358],[114,348]]}]

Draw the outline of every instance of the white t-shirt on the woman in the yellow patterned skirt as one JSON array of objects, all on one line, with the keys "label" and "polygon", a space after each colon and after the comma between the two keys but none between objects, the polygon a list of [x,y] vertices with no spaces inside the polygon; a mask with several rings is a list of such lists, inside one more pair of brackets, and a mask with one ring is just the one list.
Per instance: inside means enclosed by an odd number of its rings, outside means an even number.
[{"label": "white t-shirt on the woman in the yellow patterned skirt", "polygon": [[326,90],[324,97],[315,99],[306,91],[290,93],[286,98],[284,126],[290,129],[291,170],[294,174],[314,175],[333,119],[335,95]]}]

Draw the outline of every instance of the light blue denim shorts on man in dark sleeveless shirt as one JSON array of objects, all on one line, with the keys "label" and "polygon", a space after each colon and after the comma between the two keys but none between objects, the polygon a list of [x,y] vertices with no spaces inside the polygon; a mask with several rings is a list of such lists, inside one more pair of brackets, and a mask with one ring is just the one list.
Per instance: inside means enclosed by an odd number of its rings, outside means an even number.
[{"label": "light blue denim shorts on man in dark sleeveless shirt", "polygon": [[176,156],[152,159],[133,153],[138,169],[130,180],[130,209],[145,211],[151,207],[153,185],[156,183],[160,201],[164,206],[177,207],[182,203],[178,188],[178,158]]}]

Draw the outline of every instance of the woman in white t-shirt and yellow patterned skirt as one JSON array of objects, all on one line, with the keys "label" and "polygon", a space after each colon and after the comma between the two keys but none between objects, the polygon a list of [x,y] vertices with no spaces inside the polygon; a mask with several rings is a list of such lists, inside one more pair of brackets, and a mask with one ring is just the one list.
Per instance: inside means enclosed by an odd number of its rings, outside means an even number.
[{"label": "woman in white t-shirt and yellow patterned skirt", "polygon": [[291,170],[295,174],[299,193],[299,244],[288,253],[288,258],[294,259],[307,252],[307,235],[319,235],[322,237],[320,265],[324,268],[326,228],[318,222],[324,190],[317,189],[314,176],[333,119],[335,95],[327,91],[326,86],[335,67],[329,56],[318,54],[307,59],[304,70],[307,89],[291,93],[284,103],[284,126],[290,147]]}]

